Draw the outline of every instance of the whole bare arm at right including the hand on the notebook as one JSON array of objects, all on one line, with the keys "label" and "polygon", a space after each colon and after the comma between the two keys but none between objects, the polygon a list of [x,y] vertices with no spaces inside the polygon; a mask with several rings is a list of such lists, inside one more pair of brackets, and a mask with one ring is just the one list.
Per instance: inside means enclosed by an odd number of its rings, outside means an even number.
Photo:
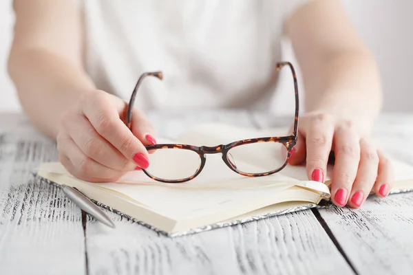
[{"label": "whole bare arm at right including the hand on the notebook", "polygon": [[306,113],[290,164],[306,162],[309,179],[324,181],[334,152],[331,195],[359,208],[370,194],[388,195],[392,166],[370,137],[382,104],[372,54],[353,30],[339,0],[310,0],[286,23],[306,89]]}]

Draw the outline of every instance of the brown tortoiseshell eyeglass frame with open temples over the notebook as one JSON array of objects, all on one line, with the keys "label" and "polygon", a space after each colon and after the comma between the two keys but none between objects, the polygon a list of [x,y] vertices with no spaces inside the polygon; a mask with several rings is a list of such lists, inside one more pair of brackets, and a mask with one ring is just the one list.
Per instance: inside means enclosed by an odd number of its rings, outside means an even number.
[{"label": "brown tortoiseshell eyeglass frame with open temples over the notebook", "polygon": [[[291,150],[293,149],[293,147],[295,146],[295,144],[297,142],[298,113],[299,113],[298,85],[297,85],[297,76],[295,74],[295,69],[294,69],[294,67],[291,63],[281,62],[281,63],[277,63],[277,72],[280,69],[282,69],[282,67],[284,67],[284,66],[290,67],[291,72],[293,73],[294,89],[295,89],[295,118],[294,118],[293,133],[291,135],[283,136],[283,137],[256,137],[256,138],[251,138],[251,139],[247,139],[247,140],[237,140],[237,141],[231,142],[229,144],[220,144],[218,146],[212,146],[212,147],[210,147],[210,146],[193,146],[193,145],[189,145],[189,144],[147,145],[145,147],[147,148],[148,151],[157,150],[157,149],[165,149],[165,148],[174,148],[174,149],[183,149],[183,150],[193,151],[195,153],[198,153],[198,155],[200,156],[200,166],[195,171],[195,173],[193,175],[191,175],[191,177],[186,177],[184,179],[161,179],[161,178],[158,178],[158,177],[153,177],[153,175],[148,173],[148,171],[145,170],[145,169],[142,169],[142,171],[148,177],[150,177],[153,180],[160,181],[160,182],[165,182],[165,183],[169,183],[169,184],[173,184],[173,183],[178,184],[178,183],[182,183],[182,182],[185,182],[185,181],[189,181],[191,179],[194,179],[196,176],[198,176],[201,173],[202,168],[204,168],[205,162],[207,161],[207,159],[205,157],[205,154],[215,154],[215,153],[222,153],[222,160],[224,161],[226,166],[231,168],[231,170],[233,170],[235,173],[238,173],[238,174],[246,176],[246,177],[262,177],[262,176],[277,173],[280,170],[282,170],[288,164],[288,160],[290,159],[290,155],[291,155]],[[133,109],[133,106],[134,106],[136,92],[138,91],[138,87],[140,86],[140,83],[142,83],[142,80],[147,76],[155,76],[155,77],[159,78],[160,80],[162,80],[162,78],[163,78],[162,72],[146,72],[146,73],[142,74],[140,76],[140,78],[138,79],[138,82],[135,85],[135,89],[134,89],[134,91],[131,95],[131,99],[129,101],[129,105],[127,106],[127,112],[126,112],[126,124],[127,124],[128,128],[130,130],[132,129],[131,128],[132,127],[131,118],[132,118],[132,109]],[[240,146],[240,145],[243,145],[243,144],[253,144],[253,143],[257,143],[257,142],[279,142],[279,143],[284,144],[284,146],[286,147],[287,152],[288,152],[287,157],[286,157],[286,161],[284,162],[284,164],[281,167],[279,167],[275,170],[268,171],[266,173],[251,174],[251,173],[244,173],[240,170],[237,170],[236,166],[233,165],[231,160],[229,160],[229,158],[227,157],[228,151],[231,148],[234,148],[236,146]]]}]

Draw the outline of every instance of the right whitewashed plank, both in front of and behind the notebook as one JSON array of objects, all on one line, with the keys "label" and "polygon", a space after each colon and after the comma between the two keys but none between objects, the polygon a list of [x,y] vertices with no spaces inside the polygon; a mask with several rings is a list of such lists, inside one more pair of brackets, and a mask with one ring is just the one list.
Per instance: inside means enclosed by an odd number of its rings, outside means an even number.
[{"label": "right whitewashed plank, both in front of and behind the notebook", "polygon": [[[382,115],[374,136],[388,155],[413,165],[412,124],[413,115]],[[358,274],[412,274],[412,192],[319,212]]]}]

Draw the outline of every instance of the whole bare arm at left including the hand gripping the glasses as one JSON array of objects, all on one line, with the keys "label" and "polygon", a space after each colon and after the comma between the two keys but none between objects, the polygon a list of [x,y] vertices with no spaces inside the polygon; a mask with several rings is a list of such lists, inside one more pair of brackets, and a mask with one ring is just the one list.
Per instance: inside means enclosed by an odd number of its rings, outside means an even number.
[{"label": "whole bare arm at left including the hand gripping the glasses", "polygon": [[63,166],[99,182],[147,168],[153,127],[134,110],[130,131],[120,119],[125,102],[95,89],[84,72],[75,0],[15,0],[14,10],[10,76],[34,126],[56,139]]}]

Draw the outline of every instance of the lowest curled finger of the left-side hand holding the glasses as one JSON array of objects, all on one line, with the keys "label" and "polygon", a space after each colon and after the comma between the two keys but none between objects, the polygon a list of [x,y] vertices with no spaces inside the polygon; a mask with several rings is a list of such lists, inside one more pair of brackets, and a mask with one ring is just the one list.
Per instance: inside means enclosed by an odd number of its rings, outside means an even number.
[{"label": "lowest curled finger of the left-side hand holding the glasses", "polygon": [[[75,177],[85,181],[106,182],[116,181],[123,175],[122,172],[107,168],[87,157],[68,135],[59,136],[59,143],[62,144],[60,148],[61,158],[65,161],[69,173]],[[64,157],[67,157],[70,163]]]}]

